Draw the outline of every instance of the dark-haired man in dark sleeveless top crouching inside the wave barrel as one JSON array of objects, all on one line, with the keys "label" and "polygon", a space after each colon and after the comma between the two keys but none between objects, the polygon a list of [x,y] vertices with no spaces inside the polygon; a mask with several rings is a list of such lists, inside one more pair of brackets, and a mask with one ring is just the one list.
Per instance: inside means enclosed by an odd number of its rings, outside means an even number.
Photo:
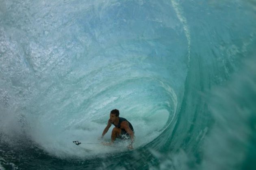
[{"label": "dark-haired man in dark sleeveless top crouching inside the wave barrel", "polygon": [[113,128],[111,133],[111,142],[104,143],[104,145],[113,144],[116,138],[119,138],[119,139],[130,138],[131,143],[129,144],[128,148],[133,149],[132,143],[134,140],[134,130],[133,130],[132,124],[126,119],[119,117],[119,110],[117,109],[111,110],[110,118],[108,119],[108,124],[105,127],[101,138],[103,138],[106,132],[108,132],[108,129],[109,127],[111,127],[112,124],[115,125],[115,127]]}]

